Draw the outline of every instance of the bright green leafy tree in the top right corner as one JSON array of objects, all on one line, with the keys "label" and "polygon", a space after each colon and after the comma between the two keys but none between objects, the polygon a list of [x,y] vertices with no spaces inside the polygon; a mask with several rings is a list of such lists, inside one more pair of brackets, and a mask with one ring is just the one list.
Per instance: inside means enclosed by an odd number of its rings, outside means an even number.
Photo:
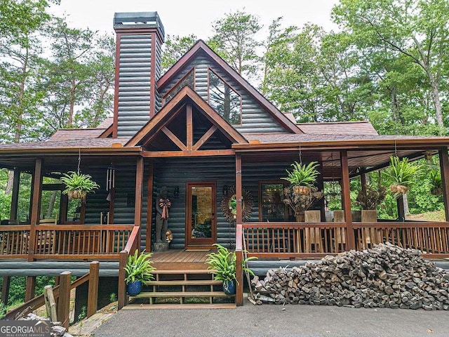
[{"label": "bright green leafy tree in the top right corner", "polygon": [[388,48],[424,72],[434,119],[443,128],[441,81],[449,47],[447,0],[341,0],[333,19],[360,48]]}]

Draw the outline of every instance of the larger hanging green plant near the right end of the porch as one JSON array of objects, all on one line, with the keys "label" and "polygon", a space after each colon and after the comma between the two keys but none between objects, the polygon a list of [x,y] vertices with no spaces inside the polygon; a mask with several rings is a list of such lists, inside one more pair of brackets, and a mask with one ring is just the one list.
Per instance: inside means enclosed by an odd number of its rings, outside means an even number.
[{"label": "larger hanging green plant near the right end of the porch", "polygon": [[399,159],[390,157],[390,166],[384,174],[391,181],[390,190],[396,197],[406,194],[410,185],[420,176],[421,168],[417,164],[410,163],[408,158]]}]

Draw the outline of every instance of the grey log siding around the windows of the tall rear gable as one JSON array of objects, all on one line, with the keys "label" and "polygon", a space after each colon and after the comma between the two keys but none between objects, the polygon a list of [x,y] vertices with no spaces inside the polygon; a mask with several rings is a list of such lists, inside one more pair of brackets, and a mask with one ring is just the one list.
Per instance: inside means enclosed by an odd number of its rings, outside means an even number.
[{"label": "grey log siding around the windows of the tall rear gable", "polygon": [[195,60],[192,60],[190,66],[180,72],[178,76],[173,79],[171,84],[161,91],[161,95],[165,95],[173,85],[176,84],[192,67],[196,66],[195,71],[195,91],[204,100],[208,100],[208,65],[219,74],[225,81],[227,81],[242,97],[242,124],[235,126],[236,130],[241,133],[274,133],[285,132],[283,126],[277,123],[269,112],[263,109],[262,106],[254,100],[243,88],[229,77],[225,76],[215,65],[210,64],[210,60],[204,55],[199,55]]}]

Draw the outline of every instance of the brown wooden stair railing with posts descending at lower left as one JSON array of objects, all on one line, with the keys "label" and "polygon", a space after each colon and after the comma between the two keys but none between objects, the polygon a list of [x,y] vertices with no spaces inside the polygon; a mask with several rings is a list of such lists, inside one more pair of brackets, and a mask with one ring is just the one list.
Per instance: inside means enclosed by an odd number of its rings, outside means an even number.
[{"label": "brown wooden stair railing with posts descending at lower left", "polygon": [[[99,263],[93,261],[89,267],[89,272],[82,277],[79,277],[71,283],[72,273],[62,272],[60,275],[60,285],[53,287],[53,296],[57,303],[58,320],[62,322],[65,328],[69,327],[69,305],[70,305],[70,291],[76,289],[77,286],[81,286],[86,282],[88,285],[88,304],[87,304],[87,317],[91,317],[97,311],[98,305],[98,274]],[[22,305],[8,311],[5,315],[5,319],[18,319],[24,317],[29,312],[41,308],[45,304],[43,294],[28,300]]]}]

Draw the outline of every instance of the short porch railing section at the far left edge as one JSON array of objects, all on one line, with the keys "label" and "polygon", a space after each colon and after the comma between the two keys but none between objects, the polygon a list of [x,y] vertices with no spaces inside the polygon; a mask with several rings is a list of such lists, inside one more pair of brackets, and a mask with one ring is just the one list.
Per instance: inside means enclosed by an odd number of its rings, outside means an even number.
[{"label": "short porch railing section at the far left edge", "polygon": [[29,225],[0,226],[0,257],[26,258],[29,246]]}]

